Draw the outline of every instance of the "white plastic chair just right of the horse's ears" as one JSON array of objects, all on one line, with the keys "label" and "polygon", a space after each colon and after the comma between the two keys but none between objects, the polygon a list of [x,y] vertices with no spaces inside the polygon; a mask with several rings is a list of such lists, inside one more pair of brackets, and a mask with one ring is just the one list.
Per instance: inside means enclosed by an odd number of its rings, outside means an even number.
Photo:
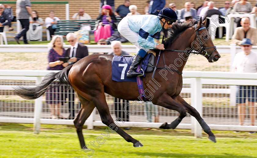
[{"label": "white plastic chair just right of the horse's ears", "polygon": [[[225,27],[226,28],[226,36],[227,36],[227,33],[228,33],[228,22],[227,20],[225,20],[225,23],[220,23],[220,21],[218,20],[219,18],[219,15],[212,15],[211,17],[207,17],[209,20],[210,20],[210,25],[209,25],[209,34],[210,34],[210,37],[212,40],[215,39],[215,35],[216,35],[216,30],[217,28],[219,28],[219,38],[222,38],[222,34],[223,34],[223,28],[222,27]],[[215,21],[215,22],[214,22]],[[212,30],[210,29],[210,26],[211,27],[214,27],[215,30],[214,32],[212,32]]]}]

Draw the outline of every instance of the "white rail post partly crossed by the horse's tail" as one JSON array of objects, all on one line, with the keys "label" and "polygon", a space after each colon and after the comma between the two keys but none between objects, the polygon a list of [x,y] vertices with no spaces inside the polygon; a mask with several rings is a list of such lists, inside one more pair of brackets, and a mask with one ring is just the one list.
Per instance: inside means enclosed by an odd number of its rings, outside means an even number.
[{"label": "white rail post partly crossed by the horse's tail", "polygon": [[[36,84],[39,84],[43,80],[43,77],[37,77]],[[40,133],[40,117],[42,110],[42,96],[35,99],[35,109],[34,109],[34,134]]]}]

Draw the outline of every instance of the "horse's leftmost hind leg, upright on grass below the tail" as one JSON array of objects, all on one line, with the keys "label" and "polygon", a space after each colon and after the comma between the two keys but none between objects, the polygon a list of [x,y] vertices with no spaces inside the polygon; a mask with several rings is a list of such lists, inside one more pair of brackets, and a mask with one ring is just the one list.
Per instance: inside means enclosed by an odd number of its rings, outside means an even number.
[{"label": "horse's leftmost hind leg, upright on grass below the tail", "polygon": [[90,114],[94,110],[95,105],[92,102],[84,99],[81,95],[77,94],[77,96],[80,100],[81,108],[73,122],[74,122],[74,125],[77,130],[81,149],[83,149],[83,148],[86,148],[86,146],[85,146],[85,141],[84,141],[84,137],[82,134],[82,127],[83,127],[85,121],[87,120],[87,118],[90,116]]}]

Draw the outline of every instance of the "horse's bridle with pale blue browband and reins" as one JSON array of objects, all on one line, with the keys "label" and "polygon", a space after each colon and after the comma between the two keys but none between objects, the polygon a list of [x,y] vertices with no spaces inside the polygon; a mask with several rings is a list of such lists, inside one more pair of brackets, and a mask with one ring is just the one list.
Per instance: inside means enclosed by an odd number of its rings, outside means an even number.
[{"label": "horse's bridle with pale blue browband and reins", "polygon": [[[196,31],[196,36],[195,36],[195,39],[194,41],[196,41],[196,38],[198,39],[199,41],[199,44],[201,46],[201,50],[198,52],[198,51],[194,51],[194,52],[191,52],[191,51],[182,51],[182,50],[175,50],[175,49],[164,49],[166,51],[171,51],[171,52],[186,52],[186,53],[193,53],[193,54],[201,54],[202,56],[205,56],[207,57],[207,59],[210,58],[210,56],[212,55],[212,53],[217,49],[216,46],[214,47],[205,47],[203,45],[203,42],[200,38],[200,35],[198,34],[198,31],[202,30],[202,29],[206,29],[206,27],[201,27],[201,28],[197,28],[197,24],[194,25],[194,28],[195,28],[195,31]],[[208,49],[208,48],[214,48],[213,51],[208,54],[207,51],[205,49]],[[213,61],[213,60],[212,60]],[[214,62],[214,61],[213,61]]]}]

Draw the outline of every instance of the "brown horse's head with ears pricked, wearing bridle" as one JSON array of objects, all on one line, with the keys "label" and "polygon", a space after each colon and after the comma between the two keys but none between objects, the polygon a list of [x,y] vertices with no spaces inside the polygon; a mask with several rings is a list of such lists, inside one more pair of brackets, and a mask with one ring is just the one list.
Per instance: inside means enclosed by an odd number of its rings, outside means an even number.
[{"label": "brown horse's head with ears pricked, wearing bridle", "polygon": [[210,34],[206,27],[204,27],[206,19],[202,22],[200,18],[199,23],[195,27],[195,37],[192,38],[191,47],[197,52],[200,52],[205,56],[210,63],[217,61],[220,58],[220,55],[214,46]]}]

